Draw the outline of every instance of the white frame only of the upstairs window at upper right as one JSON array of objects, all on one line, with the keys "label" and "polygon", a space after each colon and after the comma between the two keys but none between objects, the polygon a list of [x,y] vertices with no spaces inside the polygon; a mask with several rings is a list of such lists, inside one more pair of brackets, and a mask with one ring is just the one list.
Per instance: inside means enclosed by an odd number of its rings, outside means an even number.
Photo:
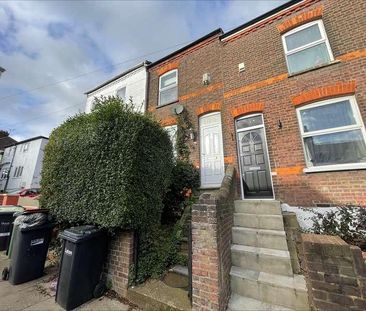
[{"label": "white frame only of the upstairs window at upper right", "polygon": [[[293,50],[289,51],[287,49],[286,37],[288,37],[290,35],[293,35],[293,34],[299,32],[301,30],[304,30],[304,29],[308,28],[308,27],[311,27],[313,25],[318,25],[319,31],[320,31],[320,34],[321,34],[322,38],[317,40],[317,41],[308,43],[306,45],[300,46],[296,49],[293,49]],[[329,58],[330,58],[330,63],[334,62],[333,52],[332,52],[332,49],[331,49],[330,44],[329,44],[329,40],[328,40],[328,36],[327,36],[327,33],[325,31],[325,28],[324,28],[323,20],[321,20],[321,19],[306,23],[304,25],[301,25],[299,27],[296,27],[295,29],[292,29],[292,30],[284,33],[282,35],[282,45],[283,45],[283,48],[285,50],[286,65],[287,65],[287,71],[289,72],[289,74],[294,75],[294,74],[297,74],[297,73],[300,73],[300,72],[303,72],[303,71],[307,71],[307,70],[311,70],[311,69],[314,69],[314,68],[318,67],[318,66],[313,66],[313,67],[305,68],[301,71],[290,72],[290,67],[289,67],[289,63],[288,63],[288,56],[292,55],[292,54],[295,54],[297,52],[303,51],[303,50],[307,50],[308,48],[314,47],[314,46],[319,45],[321,43],[325,43],[325,45],[327,47],[327,51],[328,51]],[[324,65],[326,65],[326,64],[320,65],[319,67],[322,67]]]}]

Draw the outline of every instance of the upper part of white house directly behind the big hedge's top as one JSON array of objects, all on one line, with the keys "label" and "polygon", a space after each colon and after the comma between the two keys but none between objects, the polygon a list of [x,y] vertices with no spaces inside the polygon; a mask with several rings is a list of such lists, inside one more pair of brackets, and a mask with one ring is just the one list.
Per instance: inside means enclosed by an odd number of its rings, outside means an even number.
[{"label": "upper part of white house directly behind the big hedge's top", "polygon": [[85,112],[89,113],[93,109],[95,98],[119,96],[127,103],[131,100],[135,111],[144,113],[148,77],[146,68],[149,64],[149,61],[144,61],[86,92]]}]

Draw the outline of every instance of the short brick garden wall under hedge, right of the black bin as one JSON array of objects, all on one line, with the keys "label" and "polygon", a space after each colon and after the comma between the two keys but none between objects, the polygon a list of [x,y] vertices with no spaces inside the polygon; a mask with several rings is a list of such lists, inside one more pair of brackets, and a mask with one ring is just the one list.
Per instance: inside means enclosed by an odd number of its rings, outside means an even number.
[{"label": "short brick garden wall under hedge, right of the black bin", "polygon": [[131,231],[116,233],[110,240],[105,274],[112,289],[120,296],[127,296],[128,277],[134,256],[134,234]]}]

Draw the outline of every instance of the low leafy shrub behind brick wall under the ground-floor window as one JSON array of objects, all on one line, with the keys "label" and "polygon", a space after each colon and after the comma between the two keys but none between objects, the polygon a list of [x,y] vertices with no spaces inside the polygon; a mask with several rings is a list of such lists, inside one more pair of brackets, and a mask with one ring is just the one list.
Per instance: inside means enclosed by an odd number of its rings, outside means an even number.
[{"label": "low leafy shrub behind brick wall under the ground-floor window", "polygon": [[314,212],[310,232],[337,235],[349,244],[366,249],[366,209],[340,206],[326,214]]}]

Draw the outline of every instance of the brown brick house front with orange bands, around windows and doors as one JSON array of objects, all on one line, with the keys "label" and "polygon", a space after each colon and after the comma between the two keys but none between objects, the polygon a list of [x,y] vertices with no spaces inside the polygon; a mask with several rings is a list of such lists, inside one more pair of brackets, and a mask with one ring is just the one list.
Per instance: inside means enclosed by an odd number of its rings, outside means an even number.
[{"label": "brown brick house front with orange bands, around windows and doors", "polygon": [[[322,7],[322,20],[334,58],[339,62],[289,77],[277,26],[301,14],[310,16],[307,12],[312,10],[319,12],[319,7]],[[190,112],[197,132],[197,112],[204,111],[207,104],[220,103],[224,156],[227,163],[234,163],[237,171],[235,117],[254,112],[253,107],[263,111],[278,200],[302,206],[316,203],[366,206],[366,170],[303,172],[304,151],[292,102],[293,98],[314,94],[314,90],[351,82],[366,121],[365,11],[363,0],[308,0],[250,31],[223,42],[218,38],[210,39],[203,47],[171,60],[179,71],[179,103]],[[241,62],[245,63],[243,72],[238,71]],[[163,66],[169,66],[169,61],[159,68]],[[172,105],[156,108],[159,68],[150,69],[148,109],[164,119],[172,116]],[[206,72],[212,77],[209,86],[202,85],[202,74]],[[200,109],[201,106],[204,108]],[[278,120],[281,120],[281,129],[277,126]],[[192,160],[198,165],[199,141],[191,147]]]}]

